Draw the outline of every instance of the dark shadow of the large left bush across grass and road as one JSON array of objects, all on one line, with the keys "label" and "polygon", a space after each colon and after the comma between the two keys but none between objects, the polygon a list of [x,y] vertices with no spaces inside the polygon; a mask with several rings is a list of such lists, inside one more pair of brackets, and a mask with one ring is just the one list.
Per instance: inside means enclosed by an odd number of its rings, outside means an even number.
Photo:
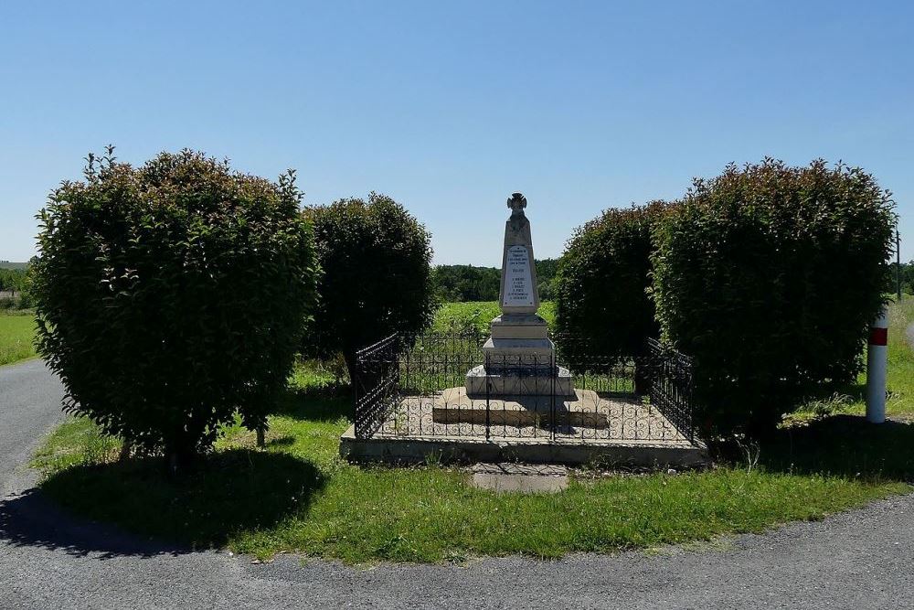
[{"label": "dark shadow of the large left bush across grass and road", "polygon": [[[49,476],[40,493],[0,502],[0,540],[101,558],[218,548],[235,532],[271,528],[307,508],[323,486],[310,462],[240,449],[208,455],[178,480],[158,458],[75,466]],[[117,529],[72,519],[45,498]]]}]

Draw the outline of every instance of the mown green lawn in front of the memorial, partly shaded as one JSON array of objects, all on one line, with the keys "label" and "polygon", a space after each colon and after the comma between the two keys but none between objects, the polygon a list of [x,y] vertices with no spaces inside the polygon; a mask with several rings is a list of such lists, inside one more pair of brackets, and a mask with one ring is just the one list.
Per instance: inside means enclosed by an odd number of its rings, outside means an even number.
[{"label": "mown green lawn in front of the memorial, partly shaded", "polygon": [[[904,320],[914,320],[910,305],[898,308]],[[914,351],[893,354],[896,384]],[[891,390],[893,412],[914,412],[909,386]],[[434,464],[346,464],[337,450],[350,405],[332,375],[300,367],[271,416],[266,450],[255,448],[253,433],[229,427],[197,472],[175,482],[158,458],[115,463],[116,442],[71,420],[35,466],[45,473],[43,490],[61,504],[143,535],[353,563],[557,557],[707,540],[907,492],[914,473],[914,426],[839,414],[806,418],[747,448],[746,459],[738,452],[705,471],[597,476],[582,469],[558,494],[494,494],[469,486],[461,470]]]}]

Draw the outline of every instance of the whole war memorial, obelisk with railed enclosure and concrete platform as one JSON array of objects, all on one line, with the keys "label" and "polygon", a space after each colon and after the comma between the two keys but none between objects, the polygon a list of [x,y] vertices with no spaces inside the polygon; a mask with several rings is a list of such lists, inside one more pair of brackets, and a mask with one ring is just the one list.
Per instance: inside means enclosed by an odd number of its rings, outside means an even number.
[{"label": "whole war memorial, obelisk with railed enclosure and concrete platform", "polygon": [[341,455],[387,462],[441,455],[461,462],[700,463],[704,447],[635,392],[633,359],[588,359],[586,337],[561,337],[585,353],[561,361],[556,337],[537,314],[526,205],[520,193],[507,200],[501,314],[489,324],[490,336],[484,342],[473,333],[391,336],[361,350],[356,423],[341,439]]}]

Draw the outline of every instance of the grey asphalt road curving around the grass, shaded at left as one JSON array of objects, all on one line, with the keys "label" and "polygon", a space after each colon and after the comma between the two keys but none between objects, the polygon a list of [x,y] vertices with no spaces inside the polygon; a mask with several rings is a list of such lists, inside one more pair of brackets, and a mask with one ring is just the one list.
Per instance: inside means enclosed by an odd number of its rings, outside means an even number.
[{"label": "grey asphalt road curving around the grass, shaded at left", "polygon": [[57,421],[60,387],[37,361],[0,368],[0,608],[914,607],[914,496],[698,550],[559,562],[347,568],[282,555],[252,564],[74,521],[22,463]]}]

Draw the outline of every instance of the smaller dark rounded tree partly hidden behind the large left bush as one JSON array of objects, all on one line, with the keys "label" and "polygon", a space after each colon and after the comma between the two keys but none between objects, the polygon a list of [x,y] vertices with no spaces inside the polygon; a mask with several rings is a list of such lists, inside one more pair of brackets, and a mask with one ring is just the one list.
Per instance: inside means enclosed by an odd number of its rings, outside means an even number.
[{"label": "smaller dark rounded tree partly hidden behind the large left bush", "polygon": [[435,305],[431,236],[396,201],[371,193],[305,209],[323,270],[305,351],[342,352],[350,377],[356,351],[395,332],[418,333]]}]

